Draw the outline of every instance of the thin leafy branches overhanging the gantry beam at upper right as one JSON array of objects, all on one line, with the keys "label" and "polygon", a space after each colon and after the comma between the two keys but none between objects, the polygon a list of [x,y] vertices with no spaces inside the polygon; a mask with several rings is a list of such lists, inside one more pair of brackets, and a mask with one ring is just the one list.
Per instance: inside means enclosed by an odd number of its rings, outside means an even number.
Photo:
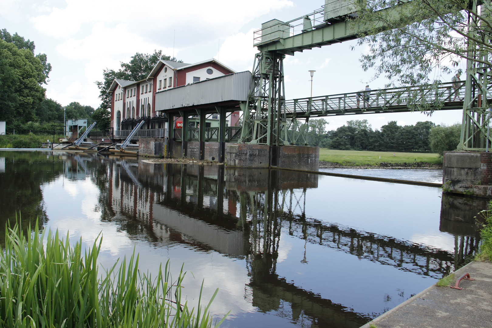
[{"label": "thin leafy branches overhanging the gantry beam at upper right", "polygon": [[[470,3],[356,0],[354,24],[365,27],[360,31],[359,44],[369,47],[360,60],[363,69],[374,68],[376,76],[384,75],[391,81],[390,86],[436,82],[439,73],[452,72],[462,59],[492,65],[491,57],[474,56],[467,42],[471,40],[484,53],[492,51],[490,6],[482,5],[477,12]],[[436,76],[436,81],[430,76]]]}]

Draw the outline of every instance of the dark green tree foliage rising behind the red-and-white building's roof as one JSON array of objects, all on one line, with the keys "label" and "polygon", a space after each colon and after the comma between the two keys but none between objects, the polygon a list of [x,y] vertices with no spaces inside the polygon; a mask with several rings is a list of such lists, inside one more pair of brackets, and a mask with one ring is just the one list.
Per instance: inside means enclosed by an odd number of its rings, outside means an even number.
[{"label": "dark green tree foliage rising behind the red-and-white building's roof", "polygon": [[154,50],[153,54],[140,54],[136,53],[131,57],[129,62],[120,62],[121,68],[118,71],[114,69],[106,68],[103,70],[104,81],[97,81],[97,88],[99,88],[99,98],[101,98],[101,108],[111,108],[111,94],[107,93],[107,90],[111,87],[114,79],[140,81],[150,74],[155,64],[159,60],[172,60],[183,62],[183,60],[176,60],[171,56],[164,55],[162,50]]}]

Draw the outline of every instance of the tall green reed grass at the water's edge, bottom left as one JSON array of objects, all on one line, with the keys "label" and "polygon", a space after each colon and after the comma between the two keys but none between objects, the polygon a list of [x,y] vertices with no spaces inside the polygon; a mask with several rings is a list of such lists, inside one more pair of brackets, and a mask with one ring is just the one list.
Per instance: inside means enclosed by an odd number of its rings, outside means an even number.
[{"label": "tall green reed grass at the water's edge, bottom left", "polygon": [[6,229],[0,255],[0,327],[210,328],[225,319],[214,325],[209,311],[218,288],[205,306],[202,290],[196,309],[188,306],[182,295],[183,267],[173,280],[168,261],[153,278],[139,269],[139,256],[133,252],[99,274],[101,237],[82,253],[81,239],[71,246],[68,235],[63,240],[58,230],[40,233],[34,227],[29,236],[18,224]]}]

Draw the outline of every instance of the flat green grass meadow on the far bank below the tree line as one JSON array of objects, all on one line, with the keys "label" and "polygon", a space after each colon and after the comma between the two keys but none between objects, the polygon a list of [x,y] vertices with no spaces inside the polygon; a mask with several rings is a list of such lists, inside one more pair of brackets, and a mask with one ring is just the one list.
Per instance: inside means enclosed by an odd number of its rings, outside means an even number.
[{"label": "flat green grass meadow on the far bank below the tree line", "polygon": [[[393,156],[395,154],[395,156]],[[319,160],[351,165],[379,165],[381,162],[442,164],[438,154],[429,152],[393,152],[319,149]]]}]

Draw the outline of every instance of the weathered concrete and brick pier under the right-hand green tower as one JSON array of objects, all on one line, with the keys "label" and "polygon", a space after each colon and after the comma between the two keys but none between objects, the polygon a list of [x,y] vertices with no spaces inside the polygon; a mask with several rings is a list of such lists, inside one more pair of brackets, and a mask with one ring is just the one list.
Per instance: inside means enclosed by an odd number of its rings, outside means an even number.
[{"label": "weathered concrete and brick pier under the right-hand green tower", "polygon": [[445,151],[443,191],[492,198],[492,153]]}]

